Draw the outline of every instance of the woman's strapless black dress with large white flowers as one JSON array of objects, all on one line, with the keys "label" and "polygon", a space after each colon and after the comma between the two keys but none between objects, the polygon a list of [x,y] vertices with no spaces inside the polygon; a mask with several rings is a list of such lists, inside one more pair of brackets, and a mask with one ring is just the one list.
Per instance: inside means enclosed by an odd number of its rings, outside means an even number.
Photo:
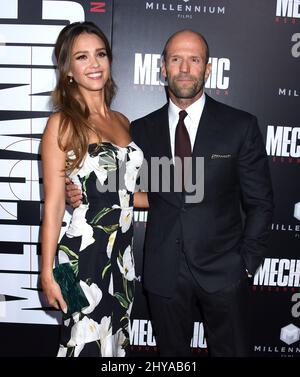
[{"label": "woman's strapless black dress with large white flowers", "polygon": [[131,142],[90,144],[69,177],[81,186],[59,244],[59,263],[71,263],[89,306],[62,323],[59,357],[125,356],[133,303],[133,193],[143,153]]}]

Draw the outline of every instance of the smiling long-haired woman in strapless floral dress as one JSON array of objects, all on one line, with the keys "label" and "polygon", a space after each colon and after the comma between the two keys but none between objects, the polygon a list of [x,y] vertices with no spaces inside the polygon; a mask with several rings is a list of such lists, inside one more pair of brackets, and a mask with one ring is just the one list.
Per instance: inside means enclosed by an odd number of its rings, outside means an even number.
[{"label": "smiling long-haired woman in strapless floral dress", "polygon": [[[83,199],[60,241],[58,258],[72,266],[89,304],[63,321],[58,356],[125,356],[136,278],[133,192],[143,154],[130,140],[127,118],[109,107],[115,84],[103,32],[91,22],[70,24],[58,36],[55,56],[56,112],[42,140],[41,283],[48,302],[66,313],[53,263],[67,175]],[[103,190],[115,173],[118,186]]]}]

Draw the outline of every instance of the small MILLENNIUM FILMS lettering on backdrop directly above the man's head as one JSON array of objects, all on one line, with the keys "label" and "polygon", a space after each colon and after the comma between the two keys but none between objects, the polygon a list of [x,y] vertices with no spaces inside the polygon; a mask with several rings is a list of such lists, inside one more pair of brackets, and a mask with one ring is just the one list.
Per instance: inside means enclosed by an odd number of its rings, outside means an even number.
[{"label": "small MILLENNIUM FILMS lettering on backdrop directly above the man's head", "polygon": [[178,19],[192,19],[193,16],[201,15],[224,15],[225,6],[211,5],[207,1],[199,0],[156,0],[145,1],[147,12],[170,14]]}]

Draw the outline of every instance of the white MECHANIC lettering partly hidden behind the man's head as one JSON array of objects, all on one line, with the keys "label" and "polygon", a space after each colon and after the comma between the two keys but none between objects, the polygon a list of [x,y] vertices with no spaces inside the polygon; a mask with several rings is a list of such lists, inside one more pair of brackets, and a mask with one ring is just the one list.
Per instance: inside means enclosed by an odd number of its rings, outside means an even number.
[{"label": "white MECHANIC lettering partly hidden behind the man's head", "polygon": [[[211,74],[208,77],[205,88],[208,94],[225,95],[229,94],[230,85],[230,59],[228,58],[209,58],[211,63]],[[135,89],[143,91],[155,88],[159,91],[167,85],[161,75],[161,55],[150,53],[135,53],[134,56],[134,77]]]}]

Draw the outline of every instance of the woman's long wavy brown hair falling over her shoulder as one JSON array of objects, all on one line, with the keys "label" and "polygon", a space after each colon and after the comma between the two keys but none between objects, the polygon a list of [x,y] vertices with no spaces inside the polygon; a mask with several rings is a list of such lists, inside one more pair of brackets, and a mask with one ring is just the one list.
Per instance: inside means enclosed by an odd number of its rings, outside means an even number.
[{"label": "woman's long wavy brown hair falling over her shoulder", "polygon": [[[81,95],[76,82],[70,82],[68,73],[71,64],[71,51],[75,39],[82,33],[95,34],[104,43],[107,57],[112,64],[112,51],[109,42],[93,22],[74,22],[65,26],[55,44],[55,57],[57,60],[58,80],[52,92],[54,110],[61,113],[61,121],[58,131],[58,145],[61,150],[67,152],[66,168],[72,171],[78,167],[87,153],[89,134],[94,132],[101,140],[99,131],[89,122],[90,111]],[[104,86],[105,104],[109,107],[116,92],[116,84],[109,77]],[[63,142],[62,142],[63,140]],[[72,156],[68,152],[73,151]]]}]

